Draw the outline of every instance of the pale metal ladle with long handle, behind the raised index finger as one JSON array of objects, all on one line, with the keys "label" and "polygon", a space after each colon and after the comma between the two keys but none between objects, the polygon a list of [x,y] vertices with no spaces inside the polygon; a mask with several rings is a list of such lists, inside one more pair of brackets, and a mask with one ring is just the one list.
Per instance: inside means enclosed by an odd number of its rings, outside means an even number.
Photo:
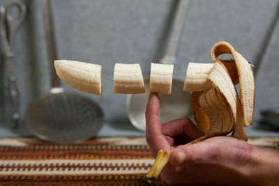
[{"label": "pale metal ladle with long handle, behind the raised index finger", "polygon": [[[166,54],[160,63],[174,64],[176,62],[176,53],[185,25],[188,4],[189,0],[179,1]],[[128,118],[139,130],[145,130],[145,108],[150,93],[149,78],[144,79],[144,84],[146,93],[128,95],[126,99]],[[190,94],[183,92],[183,84],[184,82],[180,79],[173,79],[172,94],[160,95],[160,119],[163,123],[190,115]]]}]

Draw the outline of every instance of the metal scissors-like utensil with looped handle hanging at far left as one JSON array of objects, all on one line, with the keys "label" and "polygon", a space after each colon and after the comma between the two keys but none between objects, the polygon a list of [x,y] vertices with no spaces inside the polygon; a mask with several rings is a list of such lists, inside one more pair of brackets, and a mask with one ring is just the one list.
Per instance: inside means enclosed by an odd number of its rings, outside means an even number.
[{"label": "metal scissors-like utensil with looped handle hanging at far left", "polygon": [[[17,17],[13,9],[17,8]],[[22,24],[27,13],[27,7],[22,1],[12,1],[6,7],[0,6],[0,41],[4,53],[4,120],[10,127],[17,127],[20,121],[19,93],[17,90],[17,77],[15,76],[15,63],[13,43],[15,33]]]}]

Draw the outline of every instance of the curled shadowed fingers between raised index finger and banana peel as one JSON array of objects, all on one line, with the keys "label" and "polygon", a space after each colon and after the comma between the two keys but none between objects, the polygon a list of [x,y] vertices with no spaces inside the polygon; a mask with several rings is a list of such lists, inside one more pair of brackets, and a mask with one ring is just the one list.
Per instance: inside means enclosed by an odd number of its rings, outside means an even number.
[{"label": "curled shadowed fingers between raised index finger and banana peel", "polygon": [[162,125],[163,134],[168,137],[178,137],[186,135],[190,139],[202,137],[204,133],[199,130],[189,118],[181,118],[174,121],[169,121]]}]

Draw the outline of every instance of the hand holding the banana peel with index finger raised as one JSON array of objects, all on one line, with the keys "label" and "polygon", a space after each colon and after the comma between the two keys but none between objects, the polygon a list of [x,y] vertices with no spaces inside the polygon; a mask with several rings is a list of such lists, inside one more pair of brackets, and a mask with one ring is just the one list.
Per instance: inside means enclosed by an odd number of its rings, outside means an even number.
[{"label": "hand holding the banana peel with index finger raised", "polygon": [[167,185],[266,185],[256,169],[268,164],[260,161],[266,150],[234,137],[213,137],[186,145],[201,137],[202,132],[187,118],[161,125],[159,108],[158,95],[151,93],[146,106],[146,141],[153,157],[158,150],[172,150],[169,163],[160,174]]}]

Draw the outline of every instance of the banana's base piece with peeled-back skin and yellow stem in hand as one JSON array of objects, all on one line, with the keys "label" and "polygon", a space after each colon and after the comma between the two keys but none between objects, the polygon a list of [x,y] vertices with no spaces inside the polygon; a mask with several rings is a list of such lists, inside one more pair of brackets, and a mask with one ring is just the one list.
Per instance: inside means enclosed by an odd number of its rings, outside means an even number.
[{"label": "banana's base piece with peeled-back skin and yellow stem in hand", "polygon": [[[233,59],[218,59],[220,54],[232,54]],[[244,126],[252,124],[255,104],[255,79],[250,64],[225,41],[213,45],[211,59],[211,64],[188,64],[183,90],[191,91],[193,116],[197,127],[204,132],[203,137],[188,145],[230,132],[247,141]],[[240,98],[237,84],[240,85]],[[169,160],[168,155],[171,151],[159,151],[146,178],[158,176],[158,170],[162,170]]]}]

